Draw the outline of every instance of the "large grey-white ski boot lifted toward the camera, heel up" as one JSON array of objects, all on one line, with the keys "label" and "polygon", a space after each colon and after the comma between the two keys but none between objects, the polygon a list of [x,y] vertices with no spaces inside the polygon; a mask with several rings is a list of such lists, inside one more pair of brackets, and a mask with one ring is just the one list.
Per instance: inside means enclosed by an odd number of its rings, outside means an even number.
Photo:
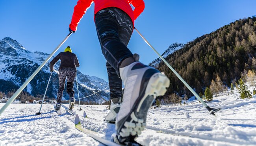
[{"label": "large grey-white ski boot lifted toward the camera, heel up", "polygon": [[148,109],[157,96],[165,94],[170,80],[137,61],[119,70],[125,87],[115,129],[118,142],[129,144],[145,129]]}]

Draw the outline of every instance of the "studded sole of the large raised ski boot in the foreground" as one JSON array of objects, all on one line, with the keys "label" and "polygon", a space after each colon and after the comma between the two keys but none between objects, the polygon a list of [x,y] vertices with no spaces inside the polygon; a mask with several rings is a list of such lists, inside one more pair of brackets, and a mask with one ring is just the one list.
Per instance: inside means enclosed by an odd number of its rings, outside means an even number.
[{"label": "studded sole of the large raised ski boot in the foreground", "polygon": [[145,129],[147,112],[157,96],[162,96],[167,91],[170,85],[170,80],[161,72],[153,74],[145,89],[145,94],[141,98],[137,98],[129,116],[122,120],[124,124],[119,128],[118,140],[121,143],[126,143],[134,140],[141,131]]}]

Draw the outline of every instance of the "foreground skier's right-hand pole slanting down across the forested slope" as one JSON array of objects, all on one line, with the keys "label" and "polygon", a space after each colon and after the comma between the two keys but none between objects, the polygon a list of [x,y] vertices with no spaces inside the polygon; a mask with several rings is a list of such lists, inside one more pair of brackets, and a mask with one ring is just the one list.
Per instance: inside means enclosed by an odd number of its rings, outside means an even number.
[{"label": "foreground skier's right-hand pole slanting down across the forested slope", "polygon": [[156,51],[156,49],[147,41],[147,39],[145,39],[145,37],[143,37],[143,35],[135,27],[134,27],[134,29],[137,31],[137,33],[139,33],[139,35],[148,44],[148,46],[150,46],[150,48],[152,48],[154,50],[154,52],[156,52],[156,54],[163,60],[163,62],[173,71],[173,73],[180,79],[180,81],[182,81],[182,83],[184,83],[184,85],[189,89],[189,91],[191,91],[196,96],[196,98],[204,105],[204,107],[206,107],[206,109],[210,112],[210,114],[215,116],[214,113],[219,111],[221,108],[213,109],[213,108],[209,107],[200,98],[200,96],[198,96],[198,94],[187,84],[187,82],[173,69],[173,67],[171,67],[171,65]]}]

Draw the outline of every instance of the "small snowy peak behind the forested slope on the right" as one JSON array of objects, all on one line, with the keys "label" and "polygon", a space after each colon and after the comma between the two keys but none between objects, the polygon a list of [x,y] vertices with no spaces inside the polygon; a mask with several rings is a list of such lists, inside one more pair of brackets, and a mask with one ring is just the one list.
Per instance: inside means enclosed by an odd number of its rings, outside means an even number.
[{"label": "small snowy peak behind the forested slope on the right", "polygon": [[[181,43],[173,43],[171,44],[171,46],[169,46],[169,48],[167,50],[165,50],[165,52],[163,52],[162,57],[165,58],[170,54],[173,54],[173,52],[180,50],[181,48],[183,48],[185,46],[185,44],[181,44]],[[149,64],[149,66],[151,67],[158,67],[158,65],[160,64],[162,60],[159,58],[155,59],[154,61],[152,61],[152,63]]]}]

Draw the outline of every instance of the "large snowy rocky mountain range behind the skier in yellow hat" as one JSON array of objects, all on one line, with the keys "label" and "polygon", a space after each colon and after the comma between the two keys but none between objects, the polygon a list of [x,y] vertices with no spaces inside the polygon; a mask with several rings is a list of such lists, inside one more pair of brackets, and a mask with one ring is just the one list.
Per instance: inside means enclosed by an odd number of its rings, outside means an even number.
[{"label": "large snowy rocky mountain range behind the skier in yellow hat", "polygon": [[[20,87],[49,55],[43,52],[30,52],[19,42],[9,37],[0,41],[0,52],[0,79],[5,80],[6,83],[8,83],[8,86],[10,86],[10,82],[13,83],[13,87]],[[54,57],[52,57],[50,61],[53,58]],[[46,63],[24,91],[29,92],[33,96],[44,94],[50,77],[49,62]],[[59,65],[60,61],[56,63],[54,69],[58,70]],[[103,90],[107,87],[103,91],[98,92],[98,94],[94,94],[88,98],[83,98],[83,101],[102,103],[109,100],[108,83],[104,81],[104,79],[84,75],[79,70],[77,71],[77,78],[80,98],[93,94],[96,91]],[[1,81],[1,83],[4,82]],[[58,74],[57,72],[53,72],[46,95],[49,98],[56,98],[58,87]],[[78,98],[76,82],[74,82],[74,91],[76,92],[75,98]],[[63,99],[69,99],[69,96],[65,91],[63,92]]]}]

